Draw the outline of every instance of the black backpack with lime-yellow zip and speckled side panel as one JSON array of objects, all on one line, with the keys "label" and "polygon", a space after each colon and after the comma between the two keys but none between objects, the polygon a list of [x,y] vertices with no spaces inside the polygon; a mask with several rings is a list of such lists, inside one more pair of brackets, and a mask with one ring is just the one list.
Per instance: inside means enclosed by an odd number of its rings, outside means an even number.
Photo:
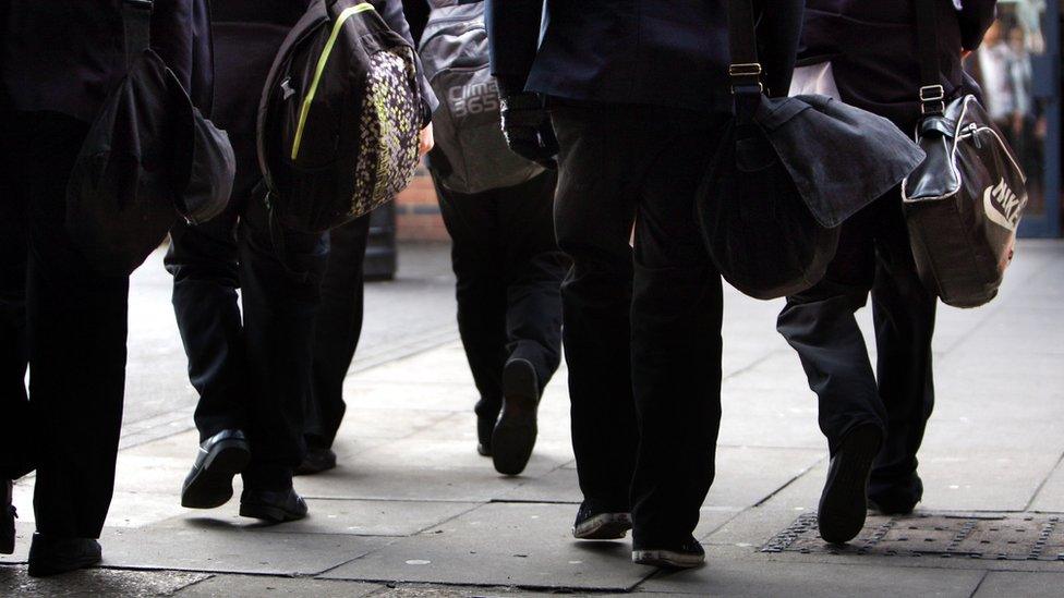
[{"label": "black backpack with lime-yellow zip and speckled side panel", "polygon": [[313,0],[258,106],[266,207],[289,230],[334,229],[390,200],[418,167],[414,50],[368,2]]}]

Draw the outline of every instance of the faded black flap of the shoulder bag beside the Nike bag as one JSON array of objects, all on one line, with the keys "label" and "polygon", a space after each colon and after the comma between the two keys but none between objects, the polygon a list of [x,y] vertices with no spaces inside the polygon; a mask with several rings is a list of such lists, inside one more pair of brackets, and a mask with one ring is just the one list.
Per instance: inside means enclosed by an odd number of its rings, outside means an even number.
[{"label": "faded black flap of the shoulder bag beside the Nike bag", "polygon": [[754,121],[826,228],[885,195],[924,158],[891,121],[826,96],[762,97]]}]

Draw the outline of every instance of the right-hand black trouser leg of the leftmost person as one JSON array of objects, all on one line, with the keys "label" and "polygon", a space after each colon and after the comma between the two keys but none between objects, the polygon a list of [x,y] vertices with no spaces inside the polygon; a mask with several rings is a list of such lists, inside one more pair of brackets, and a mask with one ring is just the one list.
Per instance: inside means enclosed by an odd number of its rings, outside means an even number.
[{"label": "right-hand black trouser leg of the leftmost person", "polygon": [[[13,121],[4,127],[5,159],[15,164],[28,219],[28,428],[37,530],[97,538],[114,488],[129,278],[97,274],[65,232],[66,182],[87,125],[45,113]],[[16,425],[7,416],[4,423]]]}]

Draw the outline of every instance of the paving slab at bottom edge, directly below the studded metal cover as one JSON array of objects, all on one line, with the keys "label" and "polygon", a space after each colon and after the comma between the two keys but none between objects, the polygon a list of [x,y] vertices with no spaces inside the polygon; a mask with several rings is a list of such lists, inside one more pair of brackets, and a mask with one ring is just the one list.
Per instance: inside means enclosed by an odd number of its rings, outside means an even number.
[{"label": "paving slab at bottom edge, directly below the studded metal cover", "polygon": [[639,586],[640,591],[668,595],[729,597],[943,596],[968,598],[976,590],[980,571],[906,571],[888,565],[825,565],[778,563],[765,559],[708,560],[705,566],[658,573]]}]

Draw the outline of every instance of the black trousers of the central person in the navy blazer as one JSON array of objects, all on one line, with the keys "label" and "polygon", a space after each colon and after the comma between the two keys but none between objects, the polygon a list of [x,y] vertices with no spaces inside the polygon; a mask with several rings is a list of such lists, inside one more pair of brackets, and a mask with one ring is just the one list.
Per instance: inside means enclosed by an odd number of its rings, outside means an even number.
[{"label": "black trousers of the central person in the navy blazer", "polygon": [[694,192],[723,117],[567,103],[552,118],[580,489],[631,508],[637,546],[673,546],[698,524],[721,423],[721,277]]}]

